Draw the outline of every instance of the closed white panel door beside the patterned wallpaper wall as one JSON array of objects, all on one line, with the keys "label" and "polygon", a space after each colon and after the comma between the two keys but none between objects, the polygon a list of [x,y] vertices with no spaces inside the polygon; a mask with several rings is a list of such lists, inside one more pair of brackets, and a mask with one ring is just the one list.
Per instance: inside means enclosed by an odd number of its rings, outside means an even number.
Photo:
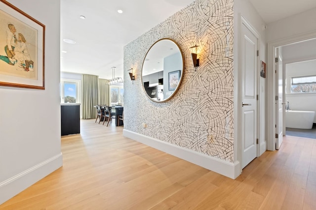
[{"label": "closed white panel door beside the patterned wallpaper wall", "polygon": [[257,37],[242,24],[242,168],[257,157]]}]

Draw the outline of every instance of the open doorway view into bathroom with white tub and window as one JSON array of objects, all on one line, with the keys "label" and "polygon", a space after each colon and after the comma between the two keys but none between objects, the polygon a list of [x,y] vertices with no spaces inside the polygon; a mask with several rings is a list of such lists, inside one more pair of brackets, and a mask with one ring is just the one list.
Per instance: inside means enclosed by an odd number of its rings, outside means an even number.
[{"label": "open doorway view into bathroom with white tub and window", "polygon": [[283,135],[316,139],[316,38],[279,50],[285,92]]}]

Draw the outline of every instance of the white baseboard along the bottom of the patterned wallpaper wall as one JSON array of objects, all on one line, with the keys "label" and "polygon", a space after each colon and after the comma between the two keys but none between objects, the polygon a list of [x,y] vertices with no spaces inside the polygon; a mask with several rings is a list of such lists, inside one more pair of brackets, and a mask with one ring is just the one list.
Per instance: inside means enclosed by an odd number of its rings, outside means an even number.
[{"label": "white baseboard along the bottom of the patterned wallpaper wall", "polygon": [[198,166],[214,171],[231,179],[236,179],[240,175],[240,166],[238,161],[235,163],[230,163],[125,129],[123,129],[123,136],[142,144],[148,145],[157,150],[161,150],[168,154],[187,160],[191,163],[194,163]]}]

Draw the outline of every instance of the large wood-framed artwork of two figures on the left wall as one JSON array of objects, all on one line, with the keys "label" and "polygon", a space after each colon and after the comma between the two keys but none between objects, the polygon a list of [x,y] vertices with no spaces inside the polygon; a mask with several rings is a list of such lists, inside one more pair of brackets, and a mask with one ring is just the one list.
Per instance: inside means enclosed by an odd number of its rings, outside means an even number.
[{"label": "large wood-framed artwork of two figures on the left wall", "polygon": [[0,86],[44,90],[45,26],[0,0]]}]

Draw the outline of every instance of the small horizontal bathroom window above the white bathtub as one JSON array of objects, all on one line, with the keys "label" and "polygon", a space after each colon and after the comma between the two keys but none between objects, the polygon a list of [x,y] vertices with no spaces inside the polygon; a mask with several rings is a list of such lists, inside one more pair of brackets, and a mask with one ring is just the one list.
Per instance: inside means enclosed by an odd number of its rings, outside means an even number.
[{"label": "small horizontal bathroom window above the white bathtub", "polygon": [[316,92],[316,76],[292,77],[291,93]]}]

